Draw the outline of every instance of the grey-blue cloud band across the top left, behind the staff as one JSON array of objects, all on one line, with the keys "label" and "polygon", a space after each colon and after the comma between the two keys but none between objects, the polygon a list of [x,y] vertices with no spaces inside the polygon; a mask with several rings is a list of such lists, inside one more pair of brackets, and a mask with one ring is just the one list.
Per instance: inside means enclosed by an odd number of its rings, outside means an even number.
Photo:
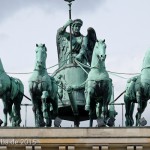
[{"label": "grey-blue cloud band across the top left, behind the staff", "polygon": [[[72,3],[75,13],[86,13],[96,10],[106,0],[75,0]],[[66,11],[67,2],[64,0],[0,0],[0,22],[11,17],[21,9],[37,7],[45,12]],[[67,12],[67,11],[66,11]]]}]

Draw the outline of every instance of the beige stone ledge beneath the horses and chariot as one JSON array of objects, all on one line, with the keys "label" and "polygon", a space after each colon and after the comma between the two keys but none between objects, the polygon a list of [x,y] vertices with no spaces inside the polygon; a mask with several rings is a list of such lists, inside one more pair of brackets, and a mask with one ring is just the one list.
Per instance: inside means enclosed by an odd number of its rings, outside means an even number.
[{"label": "beige stone ledge beneath the horses and chariot", "polygon": [[0,150],[150,150],[150,128],[0,128]]}]

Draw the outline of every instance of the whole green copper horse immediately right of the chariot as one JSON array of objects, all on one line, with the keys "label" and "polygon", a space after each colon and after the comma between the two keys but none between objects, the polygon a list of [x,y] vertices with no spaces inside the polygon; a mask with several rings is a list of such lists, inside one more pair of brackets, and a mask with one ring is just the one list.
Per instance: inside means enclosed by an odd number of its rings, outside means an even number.
[{"label": "whole green copper horse immediately right of the chariot", "polygon": [[96,42],[91,62],[91,70],[85,85],[86,105],[89,111],[90,127],[92,127],[95,109],[98,104],[97,117],[106,124],[109,117],[108,104],[112,95],[112,80],[105,68],[106,44],[105,40]]}]

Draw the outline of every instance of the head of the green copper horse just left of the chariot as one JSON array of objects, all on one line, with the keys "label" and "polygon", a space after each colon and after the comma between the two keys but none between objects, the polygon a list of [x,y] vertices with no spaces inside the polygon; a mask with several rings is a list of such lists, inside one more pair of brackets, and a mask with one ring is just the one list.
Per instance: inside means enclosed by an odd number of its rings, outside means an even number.
[{"label": "head of the green copper horse just left of the chariot", "polygon": [[45,69],[47,48],[45,44],[36,44],[36,69]]}]

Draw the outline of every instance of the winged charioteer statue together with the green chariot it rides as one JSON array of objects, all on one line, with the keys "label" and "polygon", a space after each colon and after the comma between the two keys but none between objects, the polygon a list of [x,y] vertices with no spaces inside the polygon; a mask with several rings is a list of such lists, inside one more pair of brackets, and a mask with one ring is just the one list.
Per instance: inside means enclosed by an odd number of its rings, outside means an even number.
[{"label": "winged charioteer statue together with the green chariot it rides", "polygon": [[[88,117],[84,110],[84,87],[74,90],[68,87],[81,85],[86,81],[89,69],[85,68],[85,72],[84,67],[77,65],[75,60],[85,65],[91,64],[92,52],[97,40],[93,28],[88,28],[87,36],[80,33],[82,24],[81,19],[69,19],[63,27],[58,29],[56,36],[59,69],[54,76],[59,81],[60,117],[74,121],[75,126],[79,126],[79,121],[87,120]],[[71,26],[71,33],[66,32],[68,26]],[[73,114],[70,112],[70,106]]]}]

